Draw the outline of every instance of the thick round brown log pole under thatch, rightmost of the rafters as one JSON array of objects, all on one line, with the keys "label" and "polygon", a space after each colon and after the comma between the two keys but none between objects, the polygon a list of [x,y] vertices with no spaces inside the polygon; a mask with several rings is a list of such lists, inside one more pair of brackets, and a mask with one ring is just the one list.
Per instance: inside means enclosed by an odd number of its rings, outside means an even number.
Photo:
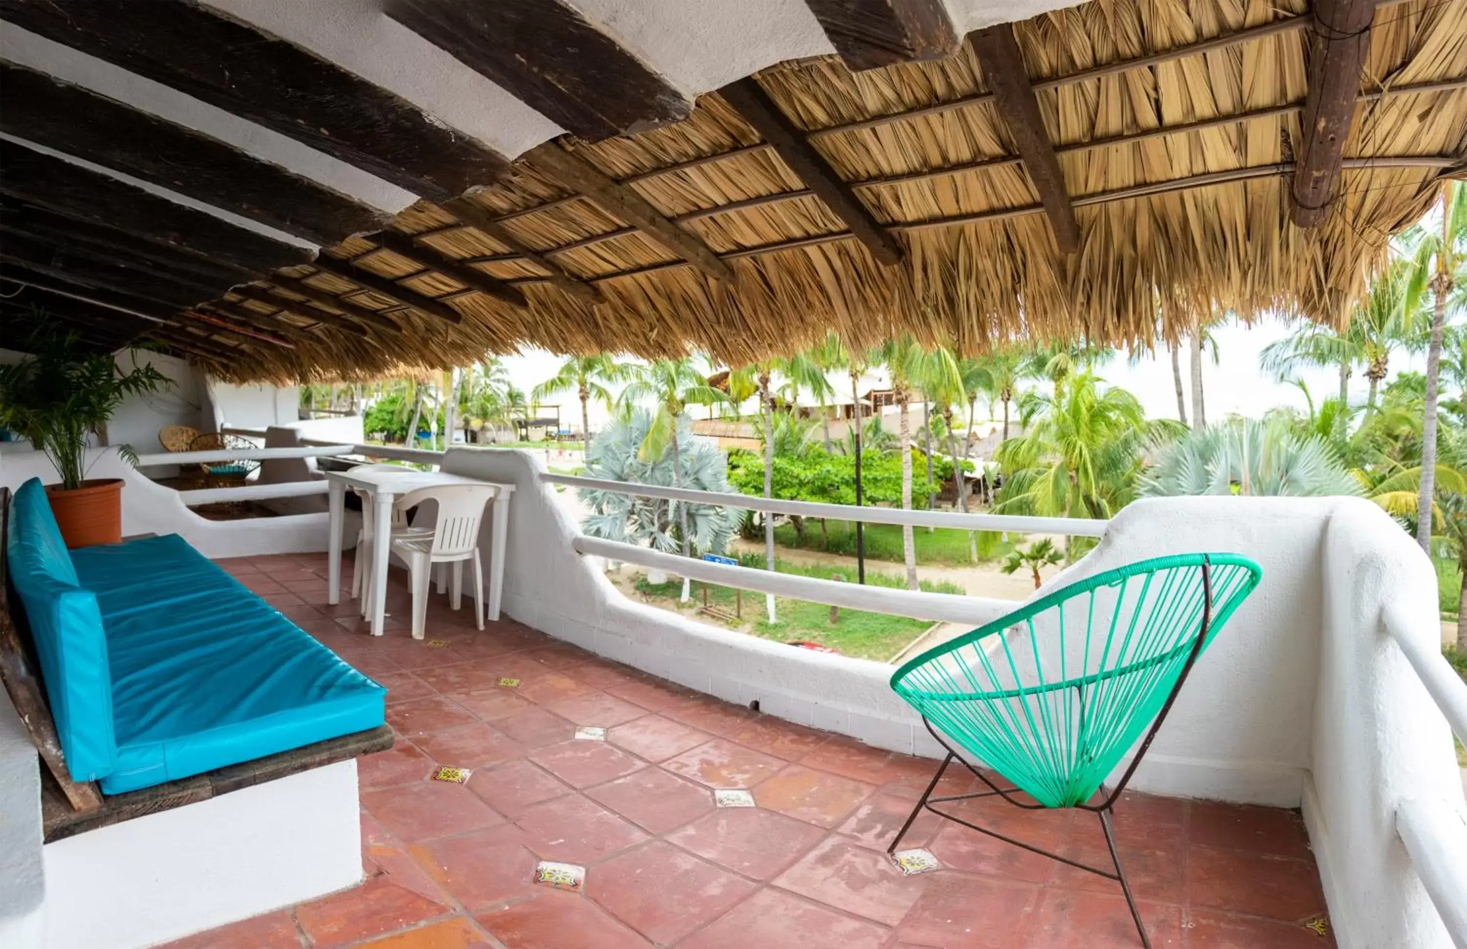
[{"label": "thick round brown log pole under thatch, rightmost of the rafters", "polygon": [[1360,73],[1370,48],[1376,0],[1314,0],[1309,32],[1309,95],[1294,169],[1289,217],[1300,227],[1325,220],[1339,186],[1345,139],[1356,119]]}]

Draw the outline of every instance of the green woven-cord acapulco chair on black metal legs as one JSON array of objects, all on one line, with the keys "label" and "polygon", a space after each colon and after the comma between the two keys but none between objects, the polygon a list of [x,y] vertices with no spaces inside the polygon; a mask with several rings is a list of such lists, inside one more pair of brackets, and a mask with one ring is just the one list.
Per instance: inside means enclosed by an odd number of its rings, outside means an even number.
[{"label": "green woven-cord acapulco chair on black metal legs", "polygon": [[[923,808],[1027,851],[1116,880],[1150,949],[1111,829],[1111,810],[1156,738],[1193,663],[1263,571],[1231,553],[1141,560],[1087,576],[973,632],[927,650],[892,675],[948,750],[895,854]],[[1150,726],[1147,729],[1147,726]],[[1144,732],[1144,738],[1143,738]],[[1141,739],[1115,788],[1090,799]],[[999,788],[954,744],[1000,774]],[[954,761],[989,791],[933,796]],[[1024,794],[1033,801],[1012,795]],[[998,795],[1027,810],[1072,807],[1100,817],[1115,873],[1042,851],[933,807]]]}]

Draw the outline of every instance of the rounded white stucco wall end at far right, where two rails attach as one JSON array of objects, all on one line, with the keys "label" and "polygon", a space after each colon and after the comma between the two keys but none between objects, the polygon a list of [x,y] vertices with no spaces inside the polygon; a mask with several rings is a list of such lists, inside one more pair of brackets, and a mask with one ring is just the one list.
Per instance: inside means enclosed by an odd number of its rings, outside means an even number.
[{"label": "rounded white stucco wall end at far right, where two rails attach", "polygon": [[1410,618],[1407,635],[1435,650],[1436,575],[1405,531],[1358,499],[1335,502],[1320,568],[1325,635],[1304,817],[1338,942],[1445,949],[1451,939],[1411,870],[1395,814],[1413,798],[1464,817],[1467,805],[1451,730],[1382,616],[1394,603]]}]

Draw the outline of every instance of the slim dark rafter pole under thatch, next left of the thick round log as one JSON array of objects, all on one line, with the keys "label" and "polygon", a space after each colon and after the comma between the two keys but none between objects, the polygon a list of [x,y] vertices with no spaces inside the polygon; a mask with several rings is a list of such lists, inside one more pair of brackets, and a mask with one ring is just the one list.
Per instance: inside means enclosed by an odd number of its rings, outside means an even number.
[{"label": "slim dark rafter pole under thatch, next left of the thick round log", "polygon": [[1014,29],[1006,23],[980,29],[973,34],[973,48],[989,88],[993,89],[998,113],[1008,125],[1024,170],[1045,205],[1055,243],[1065,254],[1074,254],[1080,249],[1080,224],[1069,202],[1065,176],[1059,170],[1059,158],[1045,131],[1045,116],[1039,111],[1039,100],[1034,98],[1034,88],[1024,70],[1024,56]]}]

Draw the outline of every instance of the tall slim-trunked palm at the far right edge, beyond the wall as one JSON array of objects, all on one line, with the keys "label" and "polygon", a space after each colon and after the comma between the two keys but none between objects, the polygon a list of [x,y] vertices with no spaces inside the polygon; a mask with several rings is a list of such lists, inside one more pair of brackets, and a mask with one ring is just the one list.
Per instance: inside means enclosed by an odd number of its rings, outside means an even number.
[{"label": "tall slim-trunked palm at the far right edge, beyond the wall", "polygon": [[1426,405],[1422,417],[1422,487],[1416,502],[1416,540],[1422,550],[1432,546],[1432,496],[1436,475],[1436,403],[1441,396],[1442,334],[1446,309],[1461,308],[1454,290],[1467,285],[1467,195],[1457,182],[1442,189],[1441,230],[1426,230],[1411,254],[1411,280],[1405,308],[1414,309],[1427,287],[1432,290],[1432,334],[1426,348]]}]

